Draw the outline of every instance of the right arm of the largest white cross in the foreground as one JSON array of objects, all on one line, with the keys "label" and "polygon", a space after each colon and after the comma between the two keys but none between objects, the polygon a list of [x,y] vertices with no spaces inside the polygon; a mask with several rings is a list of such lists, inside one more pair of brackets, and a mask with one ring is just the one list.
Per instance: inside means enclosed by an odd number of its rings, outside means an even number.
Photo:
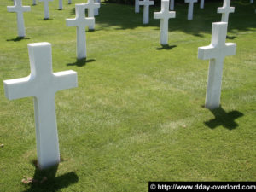
[{"label": "right arm of the largest white cross in the foreground", "polygon": [[67,90],[78,86],[78,75],[73,70],[54,73],[55,90]]}]

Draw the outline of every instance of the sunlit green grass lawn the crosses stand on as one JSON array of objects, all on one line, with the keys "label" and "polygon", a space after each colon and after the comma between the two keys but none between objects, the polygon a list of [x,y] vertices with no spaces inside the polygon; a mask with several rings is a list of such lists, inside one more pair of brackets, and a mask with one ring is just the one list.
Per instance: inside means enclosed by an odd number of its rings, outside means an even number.
[{"label": "sunlit green grass lawn the crosses stand on", "polygon": [[[239,3],[241,2],[241,3]],[[169,46],[159,44],[160,20],[143,25],[143,9],[102,3],[96,30],[88,32],[87,61],[76,60],[73,0],[43,3],[25,13],[26,38],[17,39],[11,0],[0,2],[0,81],[30,73],[27,44],[52,44],[54,72],[73,69],[79,87],[55,95],[61,163],[38,170],[33,100],[9,101],[0,86],[0,191],[148,191],[148,181],[256,180],[256,14],[248,1],[233,3],[221,108],[203,108],[209,61],[197,49],[211,42],[217,7],[176,4]],[[23,0],[31,5],[32,0]],[[255,6],[255,5],[254,5]],[[44,183],[25,185],[23,178]]]}]

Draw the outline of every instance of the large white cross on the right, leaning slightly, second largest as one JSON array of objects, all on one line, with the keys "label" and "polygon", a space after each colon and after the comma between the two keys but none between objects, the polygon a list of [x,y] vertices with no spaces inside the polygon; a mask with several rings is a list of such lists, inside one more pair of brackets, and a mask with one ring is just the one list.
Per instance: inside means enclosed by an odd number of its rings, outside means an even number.
[{"label": "large white cross on the right, leaning slightly, second largest", "polygon": [[236,44],[225,43],[228,24],[217,22],[212,24],[212,43],[198,48],[198,58],[210,60],[206,108],[218,108],[221,95],[221,81],[224,57],[236,54]]}]

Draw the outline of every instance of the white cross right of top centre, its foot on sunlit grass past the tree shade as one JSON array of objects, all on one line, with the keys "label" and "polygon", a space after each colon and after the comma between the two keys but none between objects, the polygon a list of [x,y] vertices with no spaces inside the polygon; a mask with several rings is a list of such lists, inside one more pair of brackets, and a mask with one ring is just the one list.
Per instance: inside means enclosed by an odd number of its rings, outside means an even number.
[{"label": "white cross right of top centre, its foot on sunlit grass past the tree shade", "polygon": [[161,11],[154,12],[154,19],[160,19],[160,44],[168,44],[168,22],[175,18],[176,12],[169,11],[169,0],[161,1]]}]

